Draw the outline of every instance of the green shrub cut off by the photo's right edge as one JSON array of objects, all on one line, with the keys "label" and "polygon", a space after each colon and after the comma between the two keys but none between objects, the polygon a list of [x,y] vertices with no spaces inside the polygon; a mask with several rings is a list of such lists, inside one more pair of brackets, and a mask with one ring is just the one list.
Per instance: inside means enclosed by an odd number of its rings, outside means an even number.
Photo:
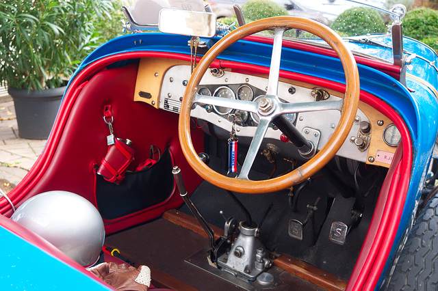
[{"label": "green shrub cut off by the photo's right edge", "polygon": [[438,37],[438,12],[430,8],[409,11],[403,19],[403,33],[422,42]]}]

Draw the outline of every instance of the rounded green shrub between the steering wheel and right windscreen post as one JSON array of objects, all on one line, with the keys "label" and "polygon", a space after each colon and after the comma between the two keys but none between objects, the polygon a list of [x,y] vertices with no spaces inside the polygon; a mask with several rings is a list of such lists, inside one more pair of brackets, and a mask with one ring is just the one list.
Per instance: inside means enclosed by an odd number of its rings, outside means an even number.
[{"label": "rounded green shrub between the steering wheel and right windscreen post", "polygon": [[331,28],[340,35],[361,36],[386,31],[382,17],[372,8],[354,7],[337,16]]}]

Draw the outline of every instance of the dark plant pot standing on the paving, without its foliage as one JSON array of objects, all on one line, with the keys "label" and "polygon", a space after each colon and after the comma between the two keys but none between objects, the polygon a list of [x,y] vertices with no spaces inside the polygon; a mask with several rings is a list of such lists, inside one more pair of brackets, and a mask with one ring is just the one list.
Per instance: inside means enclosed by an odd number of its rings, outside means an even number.
[{"label": "dark plant pot standing on the paving, without its foliage", "polygon": [[9,87],[15,105],[18,135],[23,139],[47,139],[66,87],[42,91]]}]

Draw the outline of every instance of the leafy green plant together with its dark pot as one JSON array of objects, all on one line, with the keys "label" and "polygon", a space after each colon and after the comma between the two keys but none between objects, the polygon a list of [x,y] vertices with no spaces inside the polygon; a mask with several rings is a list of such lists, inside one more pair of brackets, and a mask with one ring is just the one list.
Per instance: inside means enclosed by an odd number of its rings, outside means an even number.
[{"label": "leafy green plant together with its dark pot", "polygon": [[99,45],[96,27],[112,10],[111,0],[0,2],[0,83],[14,99],[21,137],[48,137],[64,86]]}]

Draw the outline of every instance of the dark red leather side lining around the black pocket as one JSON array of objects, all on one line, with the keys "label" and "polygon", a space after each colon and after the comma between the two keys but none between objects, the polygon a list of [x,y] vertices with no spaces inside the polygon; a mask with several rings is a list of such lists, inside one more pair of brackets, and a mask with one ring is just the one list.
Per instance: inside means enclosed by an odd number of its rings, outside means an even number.
[{"label": "dark red leather side lining around the black pocket", "polygon": [[[45,191],[64,190],[77,193],[96,205],[94,167],[99,165],[107,152],[106,136],[110,134],[108,125],[103,121],[105,105],[112,105],[114,135],[131,139],[137,150],[136,161],[129,169],[135,170],[138,163],[149,158],[151,145],[161,149],[169,146],[175,165],[183,171],[188,193],[196,189],[201,178],[194,173],[181,152],[177,133],[179,115],[155,109],[144,102],[133,102],[137,70],[138,64],[103,70],[82,83],[80,92],[76,92],[76,88],[68,90],[63,104],[70,105],[62,106],[64,110],[58,113],[55,122],[61,124],[58,121],[64,118],[65,126],[53,129],[51,135],[60,135],[60,138],[54,139],[56,144],[47,144],[44,151],[53,152],[52,158],[44,161],[48,166],[38,173],[38,180],[32,181],[35,186],[29,190],[27,197]],[[194,144],[203,151],[203,133],[196,131],[192,133]],[[182,203],[177,189],[174,189],[170,198],[162,204],[114,221],[105,221],[105,230],[110,234],[154,219]]]}]

